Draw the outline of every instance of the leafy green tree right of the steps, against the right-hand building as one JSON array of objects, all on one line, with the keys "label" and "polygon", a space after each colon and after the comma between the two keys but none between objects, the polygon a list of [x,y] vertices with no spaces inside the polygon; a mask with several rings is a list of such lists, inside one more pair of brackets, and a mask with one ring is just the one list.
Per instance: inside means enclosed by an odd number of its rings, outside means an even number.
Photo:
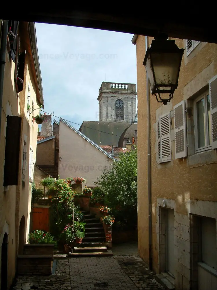
[{"label": "leafy green tree right of the steps, against the right-hand building", "polygon": [[137,148],[122,153],[118,162],[105,169],[95,185],[105,193],[105,204],[122,223],[137,223]]}]

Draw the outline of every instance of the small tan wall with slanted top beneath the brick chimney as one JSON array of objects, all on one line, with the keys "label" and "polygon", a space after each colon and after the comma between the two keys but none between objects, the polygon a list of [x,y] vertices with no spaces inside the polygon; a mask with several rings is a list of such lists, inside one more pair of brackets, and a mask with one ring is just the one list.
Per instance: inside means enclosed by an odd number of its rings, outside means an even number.
[{"label": "small tan wall with slanted top beneath the brick chimney", "polygon": [[55,138],[37,144],[36,165],[55,165]]}]

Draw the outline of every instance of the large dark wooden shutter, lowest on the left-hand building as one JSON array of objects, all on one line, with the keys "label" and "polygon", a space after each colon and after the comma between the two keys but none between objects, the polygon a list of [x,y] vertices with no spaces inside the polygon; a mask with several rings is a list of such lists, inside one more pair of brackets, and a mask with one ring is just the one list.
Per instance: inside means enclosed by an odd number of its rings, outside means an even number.
[{"label": "large dark wooden shutter, lowest on the left-hand building", "polygon": [[21,117],[7,117],[4,186],[18,185]]}]

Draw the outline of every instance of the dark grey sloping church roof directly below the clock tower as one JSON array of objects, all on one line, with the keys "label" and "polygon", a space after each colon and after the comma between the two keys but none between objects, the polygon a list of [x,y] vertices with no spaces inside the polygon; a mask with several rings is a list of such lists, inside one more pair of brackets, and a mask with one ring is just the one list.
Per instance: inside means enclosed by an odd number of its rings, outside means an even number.
[{"label": "dark grey sloping church roof directly below the clock tower", "polygon": [[128,127],[127,122],[84,121],[79,131],[97,145],[119,147],[119,138]]}]

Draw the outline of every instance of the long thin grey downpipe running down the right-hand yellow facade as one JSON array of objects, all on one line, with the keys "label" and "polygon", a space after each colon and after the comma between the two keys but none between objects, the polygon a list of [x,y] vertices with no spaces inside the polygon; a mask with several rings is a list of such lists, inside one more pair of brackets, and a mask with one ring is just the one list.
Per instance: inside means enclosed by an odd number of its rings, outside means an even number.
[{"label": "long thin grey downpipe running down the right-hand yellow facade", "polygon": [[[148,37],[146,36],[146,51],[148,49]],[[147,124],[148,124],[148,254],[149,269],[152,270],[152,199],[151,199],[151,124],[150,124],[150,86],[146,74],[147,97]]]}]

